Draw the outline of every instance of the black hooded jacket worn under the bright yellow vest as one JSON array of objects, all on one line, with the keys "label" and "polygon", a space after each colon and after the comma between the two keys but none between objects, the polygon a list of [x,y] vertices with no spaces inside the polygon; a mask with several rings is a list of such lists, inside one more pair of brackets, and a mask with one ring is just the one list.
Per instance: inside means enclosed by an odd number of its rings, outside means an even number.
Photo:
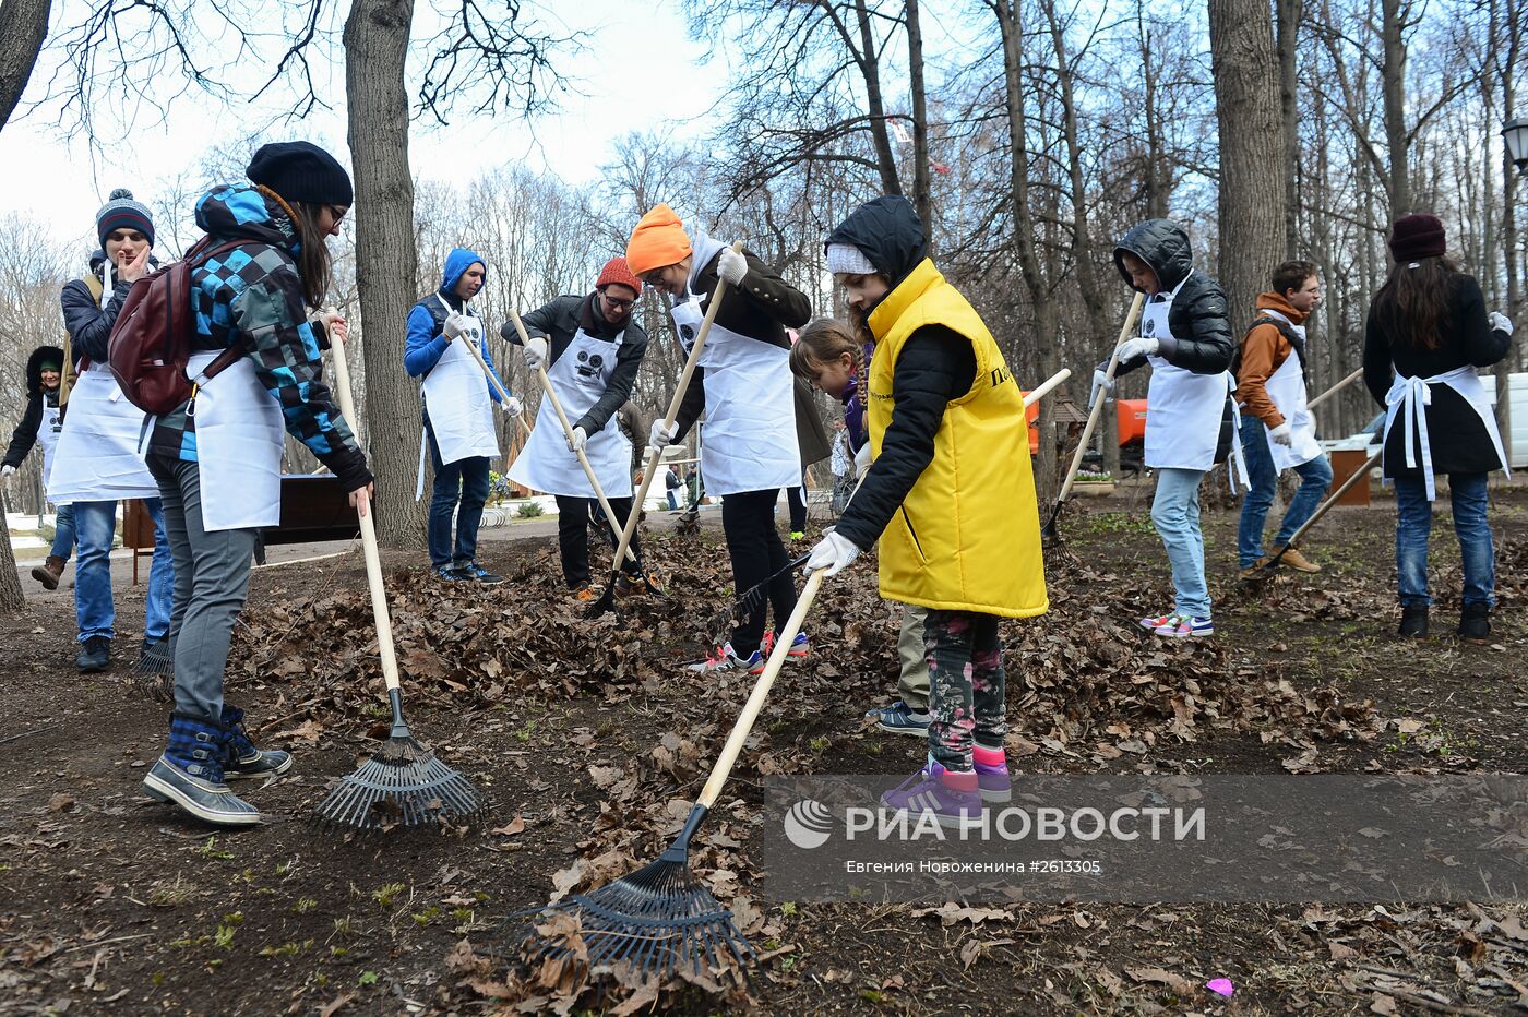
[{"label": "black hooded jacket worn under the bright yellow vest", "polygon": [[[923,223],[912,203],[900,195],[860,205],[828,234],[827,243],[859,247],[876,272],[891,279],[892,290],[929,257]],[[969,392],[975,380],[976,351],[966,336],[944,325],[924,325],[908,336],[891,379],[897,411],[882,435],[880,455],[834,533],[860,548],[876,544],[934,461],[934,437],[944,408]]]}]

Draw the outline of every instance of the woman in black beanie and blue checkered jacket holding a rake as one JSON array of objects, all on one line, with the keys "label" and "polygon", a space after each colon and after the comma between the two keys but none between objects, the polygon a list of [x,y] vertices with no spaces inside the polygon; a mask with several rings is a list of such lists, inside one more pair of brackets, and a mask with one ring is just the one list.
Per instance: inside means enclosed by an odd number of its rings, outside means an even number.
[{"label": "woman in black beanie and blue checkered jacket holding a rake", "polygon": [[[327,331],[344,336],[345,321],[309,319],[306,310],[329,290],[325,241],[350,209],[350,176],[309,142],[264,145],[246,173],[249,183],[212,188],[197,202],[197,226],[214,244],[237,246],[191,273],[197,331],[186,376],[197,388],[151,420],[147,457],[176,563],[176,687],[170,742],[144,791],[223,826],[260,822],[225,779],[292,767],[287,753],[255,748],[244,712],[223,699],[255,538],[281,521],[286,434],[333,472],[359,512],[371,493],[367,457],[322,382]],[[229,350],[237,357],[220,359]]]}]

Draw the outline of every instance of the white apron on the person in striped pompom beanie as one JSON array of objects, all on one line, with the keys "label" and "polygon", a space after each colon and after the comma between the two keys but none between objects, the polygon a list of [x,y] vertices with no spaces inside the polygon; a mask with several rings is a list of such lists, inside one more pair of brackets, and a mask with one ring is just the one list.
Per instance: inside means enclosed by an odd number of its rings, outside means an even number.
[{"label": "white apron on the person in striped pompom beanie", "polygon": [[159,498],[139,441],[148,414],[134,406],[104,363],[92,363],[69,391],[69,412],[58,435],[47,499],[55,505],[76,501]]}]

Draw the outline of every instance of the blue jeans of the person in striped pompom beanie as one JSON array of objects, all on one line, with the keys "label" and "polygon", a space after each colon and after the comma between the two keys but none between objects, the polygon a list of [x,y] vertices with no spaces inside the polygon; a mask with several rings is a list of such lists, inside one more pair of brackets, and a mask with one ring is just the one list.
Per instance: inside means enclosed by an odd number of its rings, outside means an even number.
[{"label": "blue jeans of the person in striped pompom beanie", "polygon": [[[170,609],[174,597],[174,563],[165,516],[157,498],[144,498],[154,519],[154,562],[148,568],[148,596],[144,603],[144,637],[157,640],[170,632]],[[112,538],[116,533],[115,501],[76,501],[75,534],[79,557],[75,559],[75,620],[79,641],[93,635],[116,638],[116,605],[112,602]]]}]

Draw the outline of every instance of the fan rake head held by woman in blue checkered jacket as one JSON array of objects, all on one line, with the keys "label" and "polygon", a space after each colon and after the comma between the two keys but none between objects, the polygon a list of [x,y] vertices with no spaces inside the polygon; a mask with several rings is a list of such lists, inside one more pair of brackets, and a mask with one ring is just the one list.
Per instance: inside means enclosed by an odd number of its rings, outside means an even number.
[{"label": "fan rake head held by woman in blue checkered jacket", "polygon": [[373,831],[384,826],[425,826],[439,820],[472,822],[487,802],[471,780],[440,762],[410,734],[393,698],[393,733],[371,759],[344,777],[313,806],[313,818],[329,826]]}]

